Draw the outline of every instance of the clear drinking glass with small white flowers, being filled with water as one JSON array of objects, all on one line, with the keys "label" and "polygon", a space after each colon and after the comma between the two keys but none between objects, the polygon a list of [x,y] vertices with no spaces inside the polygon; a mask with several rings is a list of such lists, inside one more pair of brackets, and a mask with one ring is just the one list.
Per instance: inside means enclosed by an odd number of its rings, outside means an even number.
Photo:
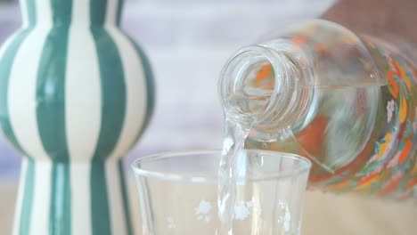
[{"label": "clear drinking glass with small white flowers, being filled with water", "polygon": [[[143,235],[223,234],[217,214],[220,158],[220,151],[188,151],[137,159],[132,168]],[[299,234],[311,163],[265,150],[246,150],[239,162],[233,234]]]}]

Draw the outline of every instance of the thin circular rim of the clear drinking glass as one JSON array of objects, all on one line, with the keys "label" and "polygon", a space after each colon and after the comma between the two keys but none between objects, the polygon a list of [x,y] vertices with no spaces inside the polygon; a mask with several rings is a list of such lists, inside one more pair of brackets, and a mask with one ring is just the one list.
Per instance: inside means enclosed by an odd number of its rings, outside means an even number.
[{"label": "thin circular rim of the clear drinking glass", "polygon": [[[280,155],[281,158],[292,158],[298,160],[301,164],[300,166],[293,171],[284,171],[284,172],[271,172],[261,175],[249,175],[245,177],[244,182],[260,182],[268,180],[277,180],[283,178],[293,177],[298,174],[303,174],[310,170],[312,163],[309,159],[301,157],[297,154],[286,153],[286,152],[277,152],[270,150],[245,150],[246,152],[258,152],[265,153],[268,155]],[[146,178],[156,178],[159,180],[170,181],[170,182],[192,182],[192,183],[218,183],[217,174],[212,174],[209,176],[197,176],[197,175],[183,175],[183,174],[173,174],[161,171],[150,171],[140,168],[138,165],[151,160],[163,159],[163,158],[178,158],[190,155],[208,155],[208,154],[222,154],[221,150],[181,150],[181,151],[166,151],[156,154],[151,154],[144,156],[142,158],[135,159],[134,162],[130,164],[130,167],[135,174],[139,174]]]}]

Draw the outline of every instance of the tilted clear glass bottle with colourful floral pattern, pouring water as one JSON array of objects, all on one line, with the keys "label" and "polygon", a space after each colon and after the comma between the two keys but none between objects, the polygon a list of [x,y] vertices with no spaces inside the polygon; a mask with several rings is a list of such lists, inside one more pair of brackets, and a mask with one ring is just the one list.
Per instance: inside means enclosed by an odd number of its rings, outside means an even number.
[{"label": "tilted clear glass bottle with colourful floral pattern, pouring water", "polygon": [[324,20],[267,38],[219,81],[227,118],[252,126],[245,148],[309,158],[311,188],[417,197],[417,70],[404,53]]}]

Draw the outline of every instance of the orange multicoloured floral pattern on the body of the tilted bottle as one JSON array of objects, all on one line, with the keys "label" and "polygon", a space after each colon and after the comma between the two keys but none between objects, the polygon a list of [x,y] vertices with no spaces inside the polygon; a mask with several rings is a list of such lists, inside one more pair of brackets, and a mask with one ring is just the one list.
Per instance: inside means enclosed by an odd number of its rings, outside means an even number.
[{"label": "orange multicoloured floral pattern on the body of the tilted bottle", "polygon": [[386,76],[390,98],[385,105],[389,130],[374,143],[371,158],[366,157],[370,156],[370,150],[364,150],[356,162],[313,184],[337,193],[356,191],[387,199],[408,199],[417,186],[414,154],[417,145],[415,69],[401,55],[369,45],[388,65]]}]

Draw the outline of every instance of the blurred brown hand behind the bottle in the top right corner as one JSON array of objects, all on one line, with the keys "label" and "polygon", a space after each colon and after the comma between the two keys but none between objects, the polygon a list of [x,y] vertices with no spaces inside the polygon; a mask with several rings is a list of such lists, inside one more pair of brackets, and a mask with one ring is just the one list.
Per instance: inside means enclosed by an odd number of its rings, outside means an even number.
[{"label": "blurred brown hand behind the bottle in the top right corner", "polygon": [[340,0],[322,16],[358,33],[417,45],[417,0]]}]

